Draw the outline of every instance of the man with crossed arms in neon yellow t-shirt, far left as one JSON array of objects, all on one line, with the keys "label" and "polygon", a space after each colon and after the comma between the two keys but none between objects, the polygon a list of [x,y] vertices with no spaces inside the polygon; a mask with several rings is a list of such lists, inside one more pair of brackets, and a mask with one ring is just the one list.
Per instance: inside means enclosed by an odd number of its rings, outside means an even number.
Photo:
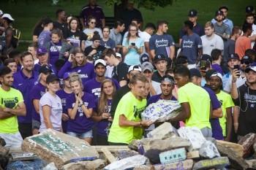
[{"label": "man with crossed arms in neon yellow t-shirt, far left", "polygon": [[17,116],[26,115],[26,106],[19,90],[11,88],[12,70],[4,66],[0,69],[0,136],[5,147],[21,147],[23,139],[18,129]]}]

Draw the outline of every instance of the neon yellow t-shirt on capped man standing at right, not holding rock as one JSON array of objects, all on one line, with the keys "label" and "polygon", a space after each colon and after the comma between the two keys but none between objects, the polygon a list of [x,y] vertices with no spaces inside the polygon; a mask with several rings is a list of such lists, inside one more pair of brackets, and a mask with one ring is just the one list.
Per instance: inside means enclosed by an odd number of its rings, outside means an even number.
[{"label": "neon yellow t-shirt on capped man standing at right, not holding rock", "polygon": [[220,91],[220,93],[216,94],[219,103],[222,107],[223,117],[219,118],[219,124],[222,126],[222,133],[223,136],[227,136],[226,134],[226,123],[227,123],[227,108],[234,107],[235,104],[233,103],[233,100],[231,96],[223,91]]}]

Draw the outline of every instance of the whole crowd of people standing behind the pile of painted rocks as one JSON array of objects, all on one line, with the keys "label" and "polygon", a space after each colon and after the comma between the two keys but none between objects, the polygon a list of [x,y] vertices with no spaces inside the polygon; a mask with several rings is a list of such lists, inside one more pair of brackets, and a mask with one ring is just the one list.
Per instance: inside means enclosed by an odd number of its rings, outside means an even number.
[{"label": "whole crowd of people standing behind the pile of painted rocks", "polygon": [[[205,137],[238,142],[256,133],[255,10],[243,26],[222,5],[201,26],[189,11],[176,53],[168,23],[146,23],[133,3],[110,29],[95,0],[79,19],[56,11],[34,27],[28,51],[15,50],[14,20],[0,10],[0,136],[5,147],[48,128],[91,145],[127,145],[159,126],[141,120],[149,104],[178,101],[181,113],[167,122],[197,127]],[[79,21],[83,26],[80,30]],[[154,31],[156,33],[154,34]]]}]

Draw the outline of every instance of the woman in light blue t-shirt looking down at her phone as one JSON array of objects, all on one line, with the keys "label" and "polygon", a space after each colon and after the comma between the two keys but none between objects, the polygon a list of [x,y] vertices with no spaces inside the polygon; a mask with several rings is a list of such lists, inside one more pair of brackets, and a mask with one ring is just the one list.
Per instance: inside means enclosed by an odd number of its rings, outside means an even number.
[{"label": "woman in light blue t-shirt looking down at her phone", "polygon": [[128,66],[139,65],[144,42],[138,35],[138,26],[131,24],[128,31],[127,38],[123,40],[124,63]]}]

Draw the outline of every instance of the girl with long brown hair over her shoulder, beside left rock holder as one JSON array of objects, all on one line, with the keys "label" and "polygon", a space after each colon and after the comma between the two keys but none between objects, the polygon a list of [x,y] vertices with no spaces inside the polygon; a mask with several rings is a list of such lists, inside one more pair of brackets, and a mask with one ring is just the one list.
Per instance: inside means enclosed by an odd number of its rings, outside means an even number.
[{"label": "girl with long brown hair over her shoulder, beside left rock holder", "polygon": [[110,79],[102,81],[100,96],[95,101],[92,120],[98,123],[97,145],[108,145],[108,127],[113,119],[110,115],[110,108],[113,101],[113,94],[116,91],[115,84]]}]

